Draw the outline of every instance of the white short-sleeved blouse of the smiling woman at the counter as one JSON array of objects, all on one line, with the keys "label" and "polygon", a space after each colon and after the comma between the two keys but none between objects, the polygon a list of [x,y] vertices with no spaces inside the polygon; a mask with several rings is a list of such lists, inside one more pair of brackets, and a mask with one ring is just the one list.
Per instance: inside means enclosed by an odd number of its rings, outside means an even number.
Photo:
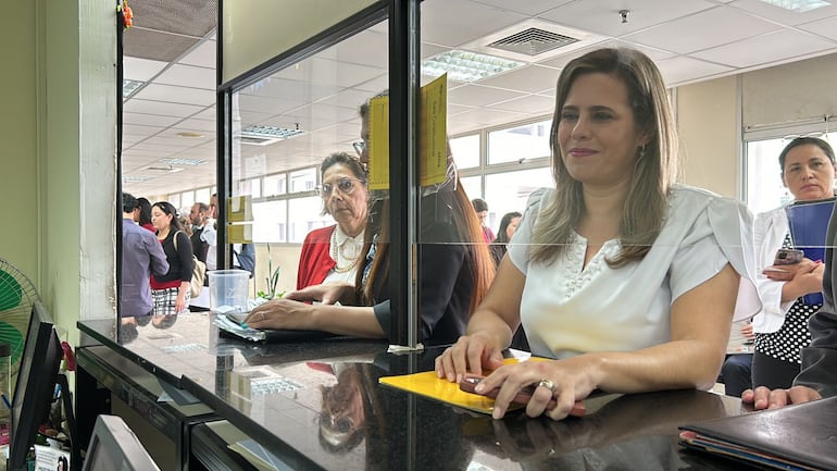
[{"label": "white short-sleeved blouse of the smiling woman at the counter", "polygon": [[[530,206],[509,244],[512,262],[526,275],[521,321],[534,355],[567,358],[670,342],[674,300],[727,263],[754,294],[751,215],[738,201],[675,186],[651,250],[640,261],[611,269],[605,258],[619,252],[621,241],[607,241],[584,267],[587,240],[578,234],[554,263],[529,263],[530,221],[546,199]],[[741,309],[748,315],[758,310]]]}]

